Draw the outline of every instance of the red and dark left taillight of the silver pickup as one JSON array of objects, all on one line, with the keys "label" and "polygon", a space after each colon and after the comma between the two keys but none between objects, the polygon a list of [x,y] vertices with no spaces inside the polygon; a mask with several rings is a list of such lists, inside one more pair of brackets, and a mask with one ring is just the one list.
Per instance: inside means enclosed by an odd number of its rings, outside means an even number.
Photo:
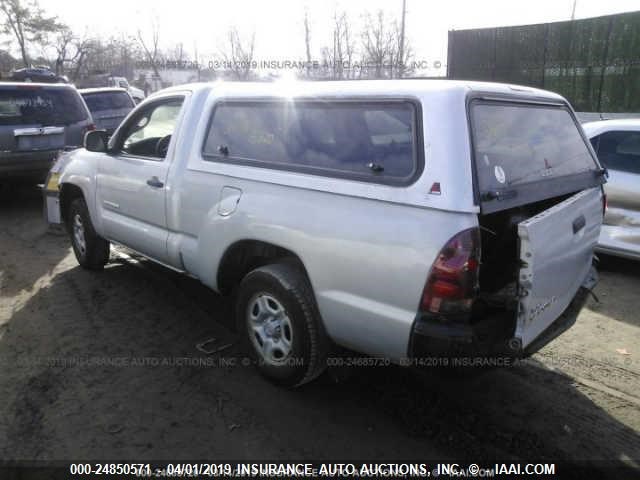
[{"label": "red and dark left taillight of the silver pickup", "polygon": [[431,267],[420,310],[440,315],[470,313],[479,269],[480,230],[463,230],[447,242]]}]

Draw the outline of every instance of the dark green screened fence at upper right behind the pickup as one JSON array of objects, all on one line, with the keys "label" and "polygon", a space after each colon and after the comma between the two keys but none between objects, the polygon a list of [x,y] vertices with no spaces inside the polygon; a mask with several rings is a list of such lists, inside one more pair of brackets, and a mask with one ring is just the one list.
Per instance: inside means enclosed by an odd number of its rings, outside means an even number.
[{"label": "dark green screened fence at upper right behind the pickup", "polygon": [[640,11],[450,31],[447,76],[552,90],[577,111],[640,112]]}]

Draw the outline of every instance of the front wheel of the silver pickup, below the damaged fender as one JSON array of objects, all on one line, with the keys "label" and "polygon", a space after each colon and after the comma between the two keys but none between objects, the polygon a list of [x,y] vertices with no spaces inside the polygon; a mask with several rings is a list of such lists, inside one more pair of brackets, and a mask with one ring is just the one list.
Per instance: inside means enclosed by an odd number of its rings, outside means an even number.
[{"label": "front wheel of the silver pickup, below the damaged fender", "polygon": [[[93,228],[83,198],[76,198],[69,204],[66,226],[80,266],[88,270],[102,270],[109,261],[109,242],[100,237]],[[81,232],[78,227],[81,227]],[[79,236],[84,238],[84,245]]]}]

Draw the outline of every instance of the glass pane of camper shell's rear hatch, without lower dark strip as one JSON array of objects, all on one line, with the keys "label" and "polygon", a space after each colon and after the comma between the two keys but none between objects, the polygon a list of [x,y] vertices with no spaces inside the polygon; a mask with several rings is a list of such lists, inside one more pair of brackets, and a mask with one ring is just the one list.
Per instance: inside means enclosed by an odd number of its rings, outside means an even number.
[{"label": "glass pane of camper shell's rear hatch, without lower dark strip", "polygon": [[477,102],[471,113],[481,192],[597,169],[564,107]]}]

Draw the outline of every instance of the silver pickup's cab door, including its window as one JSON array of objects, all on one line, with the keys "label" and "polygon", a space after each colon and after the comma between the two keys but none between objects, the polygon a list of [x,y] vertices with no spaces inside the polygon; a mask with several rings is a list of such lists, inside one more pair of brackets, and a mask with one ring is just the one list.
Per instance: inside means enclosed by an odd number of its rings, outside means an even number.
[{"label": "silver pickup's cab door, including its window", "polygon": [[167,263],[167,153],[184,97],[159,99],[135,112],[98,166],[96,204],[104,236]]}]

